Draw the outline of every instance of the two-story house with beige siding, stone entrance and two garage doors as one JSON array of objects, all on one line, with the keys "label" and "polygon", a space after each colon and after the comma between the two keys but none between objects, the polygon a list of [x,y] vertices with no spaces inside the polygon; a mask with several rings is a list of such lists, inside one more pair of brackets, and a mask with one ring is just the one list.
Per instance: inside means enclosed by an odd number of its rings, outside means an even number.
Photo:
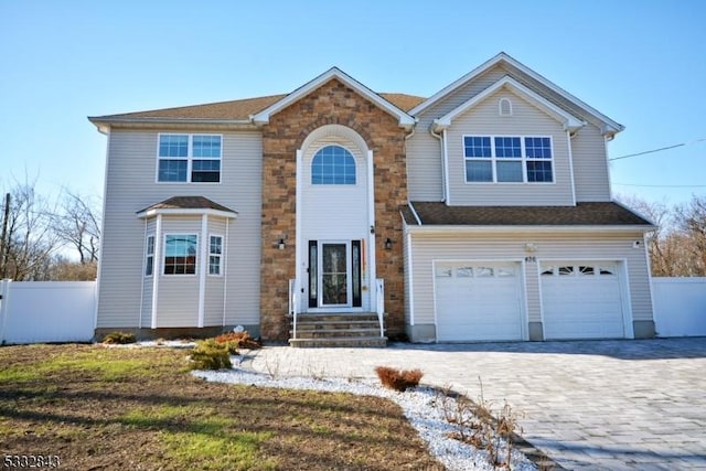
[{"label": "two-story house with beige siding, stone entrance and two garage doors", "polygon": [[654,335],[653,227],[611,200],[623,127],[504,53],[430,98],[331,68],[89,119],[108,136],[97,334],[286,340],[384,312],[415,342]]}]

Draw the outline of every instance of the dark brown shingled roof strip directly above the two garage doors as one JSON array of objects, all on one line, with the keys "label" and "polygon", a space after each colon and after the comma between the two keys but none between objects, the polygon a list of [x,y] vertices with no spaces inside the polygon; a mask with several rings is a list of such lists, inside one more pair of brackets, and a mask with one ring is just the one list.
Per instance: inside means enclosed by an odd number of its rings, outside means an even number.
[{"label": "dark brown shingled roof strip directly above the two garage doors", "polygon": [[413,202],[402,214],[410,226],[654,228],[652,223],[614,202],[576,206],[448,206]]}]

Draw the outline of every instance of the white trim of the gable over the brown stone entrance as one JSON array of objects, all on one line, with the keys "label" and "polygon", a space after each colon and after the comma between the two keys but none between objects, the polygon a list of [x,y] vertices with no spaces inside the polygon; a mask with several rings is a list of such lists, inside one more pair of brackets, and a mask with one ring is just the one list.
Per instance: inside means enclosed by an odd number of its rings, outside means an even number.
[{"label": "white trim of the gable over the brown stone entrance", "polygon": [[268,106],[267,108],[263,109],[261,111],[259,111],[257,114],[254,114],[250,117],[253,119],[253,122],[255,122],[256,125],[269,122],[269,117],[271,115],[275,115],[276,113],[282,110],[284,108],[286,108],[289,105],[296,103],[300,98],[309,95],[311,92],[315,90],[317,88],[319,88],[320,86],[327,84],[328,82],[330,82],[332,79],[338,79],[339,82],[343,83],[344,85],[353,88],[356,93],[359,93],[360,95],[362,95],[366,99],[368,99],[372,103],[374,103],[375,105],[377,105],[377,107],[379,107],[381,109],[383,109],[383,110],[389,113],[391,115],[395,116],[398,119],[400,127],[409,128],[409,127],[413,127],[415,125],[416,120],[415,120],[414,117],[407,115],[407,113],[405,113],[404,110],[402,110],[397,106],[393,105],[391,101],[388,101],[387,99],[383,98],[382,96],[379,96],[375,92],[371,90],[365,85],[361,84],[360,82],[357,82],[356,79],[354,79],[350,75],[345,74],[343,71],[341,71],[338,67],[331,67],[329,71],[327,71],[323,74],[319,75],[313,81],[308,82],[307,84],[304,84],[301,87],[297,88],[295,92],[290,93],[285,98],[274,103],[272,105]]}]

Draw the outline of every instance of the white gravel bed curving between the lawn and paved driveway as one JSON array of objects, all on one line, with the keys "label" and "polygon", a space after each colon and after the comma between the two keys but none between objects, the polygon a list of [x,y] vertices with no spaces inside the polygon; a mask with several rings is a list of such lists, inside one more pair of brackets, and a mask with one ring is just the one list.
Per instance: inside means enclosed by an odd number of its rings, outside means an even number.
[{"label": "white gravel bed curving between the lawn and paved driveway", "polygon": [[[429,387],[416,387],[405,393],[382,387],[377,383],[345,379],[318,379],[313,377],[271,377],[268,374],[243,370],[240,357],[232,356],[234,367],[221,371],[194,371],[196,377],[216,383],[247,384],[261,387],[288,389],[314,389],[335,393],[352,393],[392,399],[404,410],[409,422],[427,442],[429,451],[448,470],[494,470],[488,462],[488,452],[448,437],[456,427],[443,419],[442,411],[435,406],[437,393]],[[521,452],[512,452],[512,470],[536,470],[536,465]]]}]

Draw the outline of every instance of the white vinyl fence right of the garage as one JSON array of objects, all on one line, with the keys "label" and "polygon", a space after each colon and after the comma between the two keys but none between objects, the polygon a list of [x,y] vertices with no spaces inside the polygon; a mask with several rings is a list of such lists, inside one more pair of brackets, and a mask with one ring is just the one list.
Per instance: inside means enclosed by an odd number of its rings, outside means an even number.
[{"label": "white vinyl fence right of the garage", "polygon": [[706,278],[652,278],[657,336],[706,335]]}]

